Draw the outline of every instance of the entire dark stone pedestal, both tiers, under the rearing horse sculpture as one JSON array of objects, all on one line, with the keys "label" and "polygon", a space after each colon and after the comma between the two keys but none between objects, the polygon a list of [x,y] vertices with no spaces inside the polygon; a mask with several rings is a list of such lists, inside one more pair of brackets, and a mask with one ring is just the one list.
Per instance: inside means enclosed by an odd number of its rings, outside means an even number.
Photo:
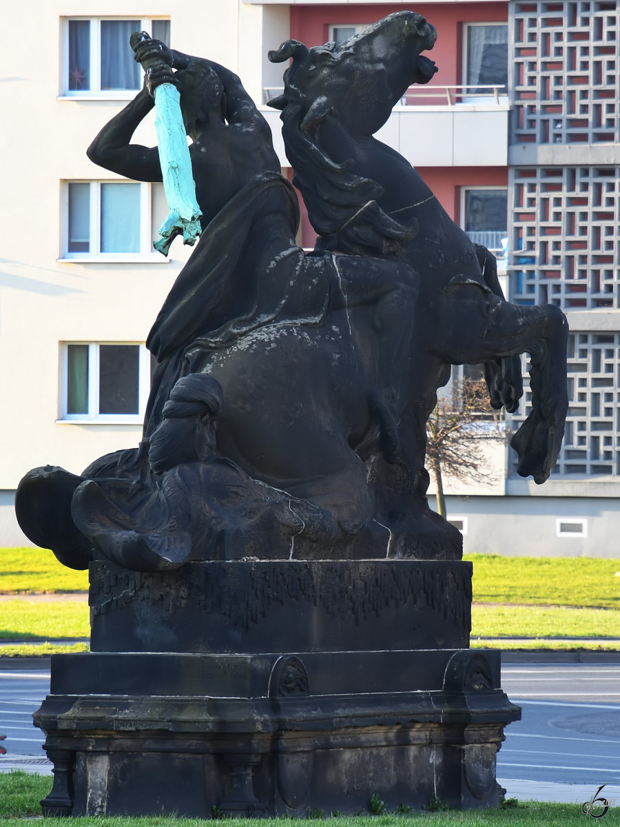
[{"label": "entire dark stone pedestal, both tiers, under the rearing horse sculpture", "polygon": [[35,716],[55,762],[48,814],[501,800],[495,756],[519,710],[498,653],[466,648],[470,564],[211,562],[171,578],[96,563],[91,576],[97,651],[53,657]]}]

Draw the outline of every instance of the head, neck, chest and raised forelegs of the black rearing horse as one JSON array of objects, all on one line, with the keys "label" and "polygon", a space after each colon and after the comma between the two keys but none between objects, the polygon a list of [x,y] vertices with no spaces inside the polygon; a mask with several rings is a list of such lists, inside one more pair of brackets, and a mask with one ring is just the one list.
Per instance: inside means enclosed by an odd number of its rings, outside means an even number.
[{"label": "head, neck, chest and raised forelegs of the black rearing horse", "polygon": [[[374,138],[406,89],[432,78],[434,65],[412,45],[434,41],[414,12],[389,15],[338,45],[287,41],[269,53],[272,61],[293,58],[284,94],[269,105],[282,110],[293,183],[317,248],[406,261],[420,275],[413,347],[422,358],[484,363],[491,404],[512,413],[522,395],[515,356],[531,354],[532,414],[512,444],[518,472],[542,483],[556,464],[568,407],[564,314],[505,302],[494,256],[451,221],[402,155]],[[436,388],[420,390],[430,392],[430,413]]]}]

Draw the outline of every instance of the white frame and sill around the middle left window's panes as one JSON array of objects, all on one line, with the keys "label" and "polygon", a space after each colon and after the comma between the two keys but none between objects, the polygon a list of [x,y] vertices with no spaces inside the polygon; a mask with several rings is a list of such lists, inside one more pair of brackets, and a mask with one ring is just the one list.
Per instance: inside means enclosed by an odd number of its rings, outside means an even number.
[{"label": "white frame and sill around the middle left window's panes", "polygon": [[[69,184],[89,184],[89,236],[90,250],[88,252],[69,251]],[[140,187],[140,227],[138,236],[140,239],[140,250],[137,252],[102,252],[101,251],[101,203],[102,184],[133,184]],[[157,185],[157,184],[155,184]],[[62,182],[62,215],[63,228],[61,250],[58,261],[98,261],[103,263],[119,263],[131,261],[169,261],[167,256],[162,256],[153,247],[154,238],[157,237],[157,230],[154,226],[153,217],[153,188],[154,184],[148,181],[134,181],[126,178],[115,179],[65,179]],[[160,184],[163,186],[163,184]]]}]

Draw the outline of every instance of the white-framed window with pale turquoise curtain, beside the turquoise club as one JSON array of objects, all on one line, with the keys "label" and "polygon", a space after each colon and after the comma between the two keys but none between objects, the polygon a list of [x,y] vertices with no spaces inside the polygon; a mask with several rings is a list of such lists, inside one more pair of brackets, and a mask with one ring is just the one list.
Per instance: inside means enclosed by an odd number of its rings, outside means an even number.
[{"label": "white-framed window with pale turquoise curtain, beside the turquoise club", "polygon": [[62,257],[131,261],[153,256],[157,218],[151,202],[160,212],[159,189],[163,193],[162,184],[126,180],[67,181]]}]

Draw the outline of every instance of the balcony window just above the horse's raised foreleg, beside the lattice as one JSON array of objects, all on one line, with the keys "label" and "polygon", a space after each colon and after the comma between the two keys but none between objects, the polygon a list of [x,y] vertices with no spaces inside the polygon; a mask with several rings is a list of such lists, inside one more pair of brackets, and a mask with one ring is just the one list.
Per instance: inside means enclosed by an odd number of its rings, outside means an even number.
[{"label": "balcony window just above the horse's raised foreleg, beside the lattice", "polygon": [[471,241],[503,258],[508,237],[506,187],[461,187],[460,216],[461,227]]}]

